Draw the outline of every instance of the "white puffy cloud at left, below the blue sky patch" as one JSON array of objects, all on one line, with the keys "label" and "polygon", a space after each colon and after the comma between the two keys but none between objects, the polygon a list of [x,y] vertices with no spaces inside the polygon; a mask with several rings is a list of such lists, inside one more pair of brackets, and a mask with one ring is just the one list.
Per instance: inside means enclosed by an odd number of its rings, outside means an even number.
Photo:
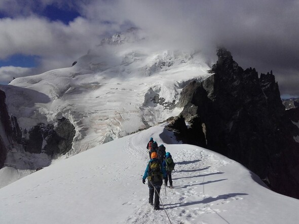
[{"label": "white puffy cloud at left, below the blue sky patch", "polygon": [[104,26],[82,17],[68,25],[44,18],[0,20],[0,59],[14,54],[37,55],[44,71],[70,66],[90,48],[100,43]]}]

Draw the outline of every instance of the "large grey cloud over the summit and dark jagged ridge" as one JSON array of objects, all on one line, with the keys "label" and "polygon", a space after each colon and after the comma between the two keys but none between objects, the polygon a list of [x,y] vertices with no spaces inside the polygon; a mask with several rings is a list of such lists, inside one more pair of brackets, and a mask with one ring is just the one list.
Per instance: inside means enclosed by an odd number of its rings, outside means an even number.
[{"label": "large grey cloud over the summit and dark jagged ridge", "polygon": [[[129,20],[159,35],[156,47],[205,50],[216,46],[232,52],[240,66],[273,70],[282,93],[299,96],[299,2],[280,0],[113,1],[92,8],[91,18]],[[294,85],[294,83],[296,85]]]}]

